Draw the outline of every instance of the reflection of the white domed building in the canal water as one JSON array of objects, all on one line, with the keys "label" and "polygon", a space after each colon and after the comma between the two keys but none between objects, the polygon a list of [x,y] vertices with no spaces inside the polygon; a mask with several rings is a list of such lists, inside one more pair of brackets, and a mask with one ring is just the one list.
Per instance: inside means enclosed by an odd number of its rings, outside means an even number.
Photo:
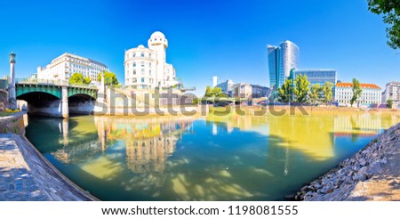
[{"label": "reflection of the white domed building in the canal water", "polygon": [[[166,160],[185,132],[191,132],[193,118],[95,118],[102,145],[107,140],[124,140],[126,164],[137,174],[164,172]],[[104,146],[106,147],[106,146]]]}]

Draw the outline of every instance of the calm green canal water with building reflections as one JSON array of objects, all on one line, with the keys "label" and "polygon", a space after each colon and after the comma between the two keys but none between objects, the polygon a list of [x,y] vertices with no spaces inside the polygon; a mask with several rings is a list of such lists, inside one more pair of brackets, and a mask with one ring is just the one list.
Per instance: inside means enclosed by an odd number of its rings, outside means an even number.
[{"label": "calm green canal water with building reflections", "polygon": [[398,122],[355,112],[29,118],[27,137],[102,200],[280,200]]}]

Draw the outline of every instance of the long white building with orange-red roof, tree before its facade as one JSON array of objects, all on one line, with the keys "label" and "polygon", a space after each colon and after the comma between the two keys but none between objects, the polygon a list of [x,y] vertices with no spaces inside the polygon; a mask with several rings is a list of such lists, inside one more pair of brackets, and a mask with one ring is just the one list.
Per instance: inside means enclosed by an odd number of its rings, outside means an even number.
[{"label": "long white building with orange-red roof, tree before its facade", "polygon": [[[340,106],[350,106],[350,100],[353,97],[352,86],[353,83],[336,83],[335,101]],[[361,97],[356,101],[356,104],[380,104],[382,96],[380,86],[374,84],[360,84],[360,86],[363,89],[363,93],[361,93]]]}]

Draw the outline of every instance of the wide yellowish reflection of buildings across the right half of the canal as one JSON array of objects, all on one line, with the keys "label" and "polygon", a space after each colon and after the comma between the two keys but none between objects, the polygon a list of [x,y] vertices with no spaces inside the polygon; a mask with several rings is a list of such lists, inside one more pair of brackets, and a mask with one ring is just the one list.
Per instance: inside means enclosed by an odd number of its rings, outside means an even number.
[{"label": "wide yellowish reflection of buildings across the right half of the canal", "polygon": [[[390,121],[387,121],[388,118]],[[341,135],[373,136],[382,128],[392,126],[400,119],[396,115],[382,117],[380,114],[369,112],[314,112],[310,116],[284,115],[280,117],[267,114],[254,117],[252,112],[240,116],[232,111],[225,117],[210,113],[206,120],[225,124],[222,126],[228,133],[234,128],[257,132],[268,136],[268,141],[273,141],[268,144],[274,143],[285,149],[300,150],[311,158],[324,160],[335,156],[336,137]]]}]

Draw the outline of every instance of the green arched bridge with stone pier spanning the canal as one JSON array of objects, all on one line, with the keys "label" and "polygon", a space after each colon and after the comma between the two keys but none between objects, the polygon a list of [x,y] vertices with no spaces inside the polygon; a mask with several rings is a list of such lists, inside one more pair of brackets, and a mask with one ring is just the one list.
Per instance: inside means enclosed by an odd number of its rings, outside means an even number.
[{"label": "green arched bridge with stone pier spanning the canal", "polygon": [[60,80],[17,78],[15,93],[17,100],[27,101],[30,114],[68,118],[69,113],[91,113],[98,88]]}]

